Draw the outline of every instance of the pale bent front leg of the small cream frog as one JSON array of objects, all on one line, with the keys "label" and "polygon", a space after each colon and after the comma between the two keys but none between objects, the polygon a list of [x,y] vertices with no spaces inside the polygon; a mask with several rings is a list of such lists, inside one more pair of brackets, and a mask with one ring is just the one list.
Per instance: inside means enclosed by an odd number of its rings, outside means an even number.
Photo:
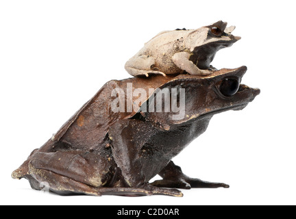
[{"label": "pale bent front leg of the small cream frog", "polygon": [[178,68],[186,70],[186,72],[190,75],[204,76],[212,73],[212,70],[203,70],[198,68],[196,64],[189,60],[190,55],[191,54],[187,52],[175,53],[172,60]]}]

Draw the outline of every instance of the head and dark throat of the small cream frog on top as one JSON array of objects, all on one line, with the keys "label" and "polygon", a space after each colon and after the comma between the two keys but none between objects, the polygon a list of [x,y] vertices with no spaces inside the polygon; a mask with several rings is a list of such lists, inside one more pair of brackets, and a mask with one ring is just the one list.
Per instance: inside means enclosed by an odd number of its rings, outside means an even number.
[{"label": "head and dark throat of the small cream frog on top", "polygon": [[217,70],[217,68],[210,65],[217,51],[231,47],[234,42],[240,40],[240,36],[233,36],[231,34],[235,27],[226,26],[226,22],[218,21],[206,27],[208,29],[208,37],[201,46],[193,49],[190,56],[190,61],[198,68],[203,70]]}]

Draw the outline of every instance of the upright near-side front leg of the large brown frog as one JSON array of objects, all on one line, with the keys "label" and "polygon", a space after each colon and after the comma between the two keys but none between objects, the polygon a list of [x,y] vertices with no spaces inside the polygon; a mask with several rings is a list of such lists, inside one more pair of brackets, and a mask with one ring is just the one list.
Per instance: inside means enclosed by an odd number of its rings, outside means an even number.
[{"label": "upright near-side front leg of the large brown frog", "polygon": [[[143,136],[151,136],[155,129],[149,123],[141,120],[121,120],[110,127],[109,138],[112,140],[112,155],[117,166],[121,169],[121,174],[127,185],[127,188],[121,188],[118,194],[183,196],[179,190],[158,188],[149,184],[149,179],[159,172],[158,166],[162,166],[162,163],[165,166],[168,162],[166,159],[153,157],[153,146],[149,151],[143,149],[143,145],[145,145]],[[153,165],[151,162],[158,162],[158,165]],[[113,192],[116,192],[116,188]]]}]

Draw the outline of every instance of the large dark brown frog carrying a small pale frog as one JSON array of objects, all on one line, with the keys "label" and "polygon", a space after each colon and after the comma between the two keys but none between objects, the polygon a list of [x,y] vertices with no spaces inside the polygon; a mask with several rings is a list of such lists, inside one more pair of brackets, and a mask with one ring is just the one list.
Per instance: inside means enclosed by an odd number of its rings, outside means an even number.
[{"label": "large dark brown frog carrying a small pale frog", "polygon": [[[109,81],[12,177],[58,194],[182,196],[176,188],[228,188],[187,177],[171,159],[206,131],[214,114],[242,110],[260,93],[240,84],[246,70]],[[162,101],[166,95],[169,102]],[[156,175],[163,179],[149,183]]]}]

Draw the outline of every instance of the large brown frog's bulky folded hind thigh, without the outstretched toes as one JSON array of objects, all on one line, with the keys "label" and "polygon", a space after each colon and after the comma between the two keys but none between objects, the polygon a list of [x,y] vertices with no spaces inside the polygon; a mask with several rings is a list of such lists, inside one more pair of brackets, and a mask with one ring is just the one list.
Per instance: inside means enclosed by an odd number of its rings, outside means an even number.
[{"label": "large brown frog's bulky folded hind thigh, without the outstretched toes", "polygon": [[29,174],[38,182],[33,186],[36,190],[47,186],[49,190],[58,194],[99,196],[99,188],[112,179],[111,162],[112,160],[101,159],[96,153],[38,152],[29,162]]}]

